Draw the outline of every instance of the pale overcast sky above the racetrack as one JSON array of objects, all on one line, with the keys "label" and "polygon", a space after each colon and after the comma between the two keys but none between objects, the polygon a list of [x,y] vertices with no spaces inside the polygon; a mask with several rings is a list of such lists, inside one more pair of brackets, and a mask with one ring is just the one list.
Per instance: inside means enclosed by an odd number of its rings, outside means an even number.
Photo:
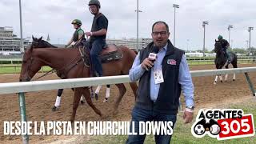
[{"label": "pale overcast sky above the racetrack", "polygon": [[[89,0],[22,0],[23,37],[50,34],[51,43],[70,40],[74,18],[82,20],[82,28],[90,30],[93,15],[88,9]],[[101,12],[109,20],[107,38],[136,38],[137,0],[101,0]],[[246,47],[248,27],[256,28],[255,0],[139,0],[139,37],[151,38],[151,26],[165,21],[170,26],[173,42],[174,8],[176,9],[176,46],[186,50],[202,49],[202,21],[206,26],[206,48],[213,49],[214,38],[222,34],[228,40],[227,26],[233,47]],[[20,35],[18,0],[0,0],[0,26],[13,26],[14,34]],[[256,31],[251,31],[251,46],[256,45]]]}]

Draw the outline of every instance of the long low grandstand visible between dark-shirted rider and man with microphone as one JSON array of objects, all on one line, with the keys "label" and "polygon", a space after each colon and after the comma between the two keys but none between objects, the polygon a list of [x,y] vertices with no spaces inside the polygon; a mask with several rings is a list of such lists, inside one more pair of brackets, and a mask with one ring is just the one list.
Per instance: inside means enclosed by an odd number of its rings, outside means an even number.
[{"label": "long low grandstand visible between dark-shirted rider and man with microphone", "polygon": [[[138,50],[145,48],[152,41],[152,38],[138,38]],[[136,50],[136,42],[136,38],[106,39],[106,43],[108,44],[115,44],[117,46],[127,46],[132,50]]]}]

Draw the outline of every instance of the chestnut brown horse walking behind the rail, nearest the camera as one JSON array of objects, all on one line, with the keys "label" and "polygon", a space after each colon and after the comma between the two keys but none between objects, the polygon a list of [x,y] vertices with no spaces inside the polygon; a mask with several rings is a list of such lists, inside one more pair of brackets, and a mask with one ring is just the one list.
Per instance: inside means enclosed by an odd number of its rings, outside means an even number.
[{"label": "chestnut brown horse walking behind the rail, nearest the camera", "polygon": [[[124,75],[129,73],[136,54],[126,46],[119,46],[119,48],[122,50],[123,54],[121,59],[102,63],[104,76]],[[20,82],[30,81],[42,66],[50,66],[54,70],[61,71],[62,74],[65,74],[66,78],[90,77],[90,67],[84,65],[78,48],[34,49],[31,47],[25,51],[22,58]],[[121,102],[123,95],[126,93],[126,87],[123,83],[116,84],[116,86],[118,86],[119,95],[114,103],[114,112],[118,110],[119,103]],[[130,82],[130,86],[136,98],[136,91],[138,89],[136,82]],[[102,116],[101,111],[98,110],[91,101],[90,90],[88,87],[79,87],[74,89],[73,111],[70,118],[71,122],[74,122],[76,110],[78,109],[79,100],[82,94],[85,96],[86,102],[94,112]]]}]

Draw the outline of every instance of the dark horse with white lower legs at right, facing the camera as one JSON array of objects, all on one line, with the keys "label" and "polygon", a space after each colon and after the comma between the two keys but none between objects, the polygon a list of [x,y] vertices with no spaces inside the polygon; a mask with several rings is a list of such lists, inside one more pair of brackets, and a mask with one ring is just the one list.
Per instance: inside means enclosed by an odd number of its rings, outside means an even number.
[{"label": "dark horse with white lower legs at right, facing the camera", "polygon": [[[222,69],[223,66],[225,66],[226,69],[229,68],[229,63],[227,63],[227,58],[225,55],[224,50],[222,50],[222,43],[219,41],[215,40],[215,44],[214,44],[214,52],[216,53],[216,58],[214,60],[216,69]],[[238,68],[238,57],[236,54],[234,54],[233,52],[228,52],[230,55],[230,62],[233,66],[233,68]],[[216,75],[215,80],[214,80],[214,84],[216,84],[216,82],[218,81],[218,77],[220,78],[221,82],[222,82],[222,76],[221,75]],[[225,81],[227,80],[228,74],[225,75]],[[233,81],[235,80],[235,74],[233,75]]]}]

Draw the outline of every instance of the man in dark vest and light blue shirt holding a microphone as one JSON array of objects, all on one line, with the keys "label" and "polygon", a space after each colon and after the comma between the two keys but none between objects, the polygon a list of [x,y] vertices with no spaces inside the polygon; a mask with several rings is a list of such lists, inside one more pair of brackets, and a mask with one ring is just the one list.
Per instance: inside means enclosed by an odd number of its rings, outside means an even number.
[{"label": "man in dark vest and light blue shirt holding a microphone", "polygon": [[[130,134],[126,143],[143,143],[146,134],[141,122],[169,122],[169,134],[155,134],[156,143],[170,143],[171,129],[176,122],[179,98],[183,91],[186,109],[183,119],[189,123],[193,119],[194,86],[183,50],[174,47],[170,40],[166,22],[155,22],[152,26],[153,42],[142,49],[130,69],[130,80],[139,80],[138,94],[132,110]],[[134,130],[133,130],[134,127]]]}]

